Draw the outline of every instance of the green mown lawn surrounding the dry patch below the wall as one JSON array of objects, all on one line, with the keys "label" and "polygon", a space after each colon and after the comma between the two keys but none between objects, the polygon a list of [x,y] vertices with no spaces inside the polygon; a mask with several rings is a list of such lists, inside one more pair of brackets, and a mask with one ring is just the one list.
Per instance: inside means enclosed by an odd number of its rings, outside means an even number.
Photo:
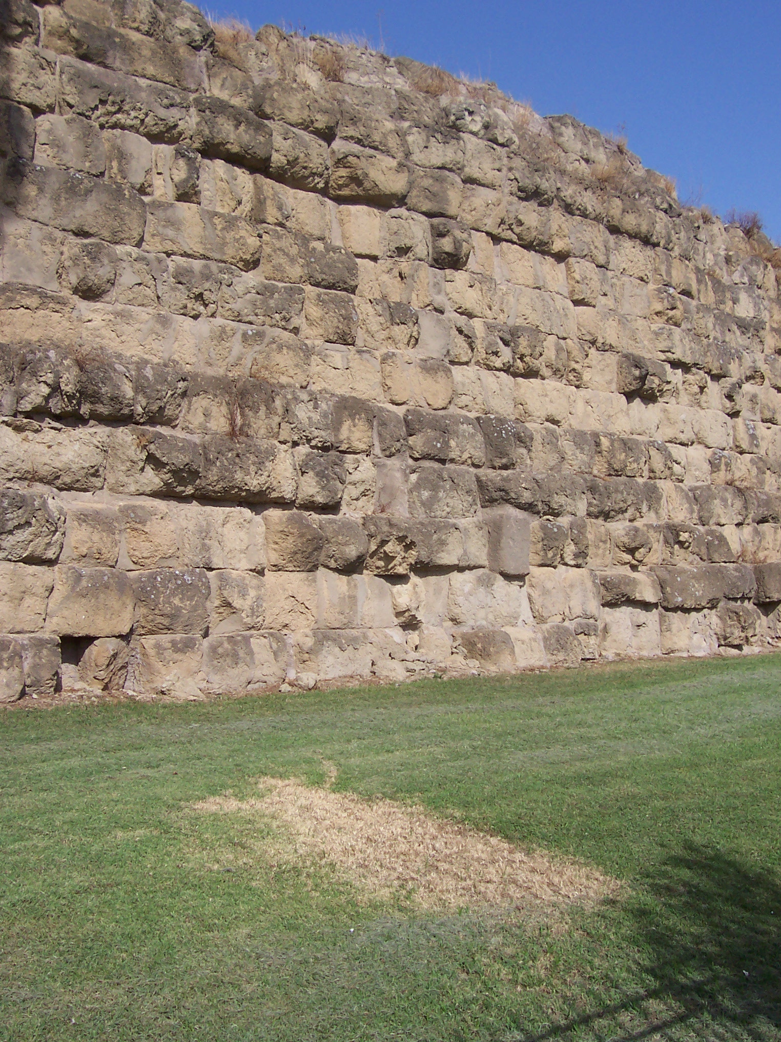
[{"label": "green mown lawn surrounding the dry patch below the wall", "polygon": [[[779,655],[17,709],[0,731],[1,1039],[781,1039]],[[191,810],[324,761],[337,790],[626,895],[437,917]]]}]

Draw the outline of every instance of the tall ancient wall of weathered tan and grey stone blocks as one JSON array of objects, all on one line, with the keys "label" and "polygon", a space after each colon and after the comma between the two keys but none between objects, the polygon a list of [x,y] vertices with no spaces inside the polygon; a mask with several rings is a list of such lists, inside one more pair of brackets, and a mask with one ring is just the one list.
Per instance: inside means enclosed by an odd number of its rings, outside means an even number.
[{"label": "tall ancient wall of weathered tan and grey stone blocks", "polygon": [[777,643],[761,235],[408,59],[3,11],[0,698]]}]

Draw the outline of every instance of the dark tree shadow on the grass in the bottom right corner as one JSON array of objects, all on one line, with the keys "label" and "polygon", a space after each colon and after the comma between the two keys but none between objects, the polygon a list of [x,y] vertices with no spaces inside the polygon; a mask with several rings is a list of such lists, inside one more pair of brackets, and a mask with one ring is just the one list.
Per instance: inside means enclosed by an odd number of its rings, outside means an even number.
[{"label": "dark tree shadow on the grass in the bottom right corner", "polygon": [[638,968],[655,986],[521,1037],[781,1038],[778,876],[688,844],[657,868],[648,890],[656,899],[638,901],[631,915],[643,951]]}]

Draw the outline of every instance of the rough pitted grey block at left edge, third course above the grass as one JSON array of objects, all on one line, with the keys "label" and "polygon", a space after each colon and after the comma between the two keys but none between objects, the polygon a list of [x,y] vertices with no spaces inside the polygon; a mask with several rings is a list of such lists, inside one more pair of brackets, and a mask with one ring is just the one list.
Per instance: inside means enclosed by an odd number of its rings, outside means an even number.
[{"label": "rough pitted grey block at left edge, third course above the grass", "polygon": [[40,564],[56,561],[62,548],[65,511],[34,492],[0,489],[0,560]]}]

